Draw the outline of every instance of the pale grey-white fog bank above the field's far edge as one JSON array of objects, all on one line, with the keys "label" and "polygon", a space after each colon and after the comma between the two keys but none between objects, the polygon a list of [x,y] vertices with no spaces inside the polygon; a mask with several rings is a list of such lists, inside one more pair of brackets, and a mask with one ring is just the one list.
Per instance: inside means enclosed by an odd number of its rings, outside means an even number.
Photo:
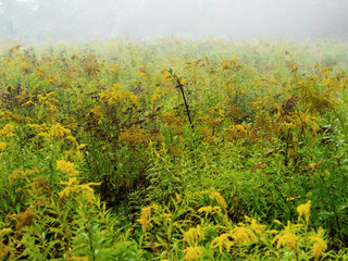
[{"label": "pale grey-white fog bank above the field's far edge", "polygon": [[0,40],[340,38],[348,0],[0,0]]}]

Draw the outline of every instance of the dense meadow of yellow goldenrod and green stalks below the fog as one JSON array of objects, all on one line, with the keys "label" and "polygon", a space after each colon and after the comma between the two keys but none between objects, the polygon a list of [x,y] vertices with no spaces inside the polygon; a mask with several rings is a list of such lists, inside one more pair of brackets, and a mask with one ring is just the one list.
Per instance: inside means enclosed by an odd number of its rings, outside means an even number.
[{"label": "dense meadow of yellow goldenrod and green stalks below the fog", "polygon": [[348,45],[0,50],[0,260],[348,260]]}]

